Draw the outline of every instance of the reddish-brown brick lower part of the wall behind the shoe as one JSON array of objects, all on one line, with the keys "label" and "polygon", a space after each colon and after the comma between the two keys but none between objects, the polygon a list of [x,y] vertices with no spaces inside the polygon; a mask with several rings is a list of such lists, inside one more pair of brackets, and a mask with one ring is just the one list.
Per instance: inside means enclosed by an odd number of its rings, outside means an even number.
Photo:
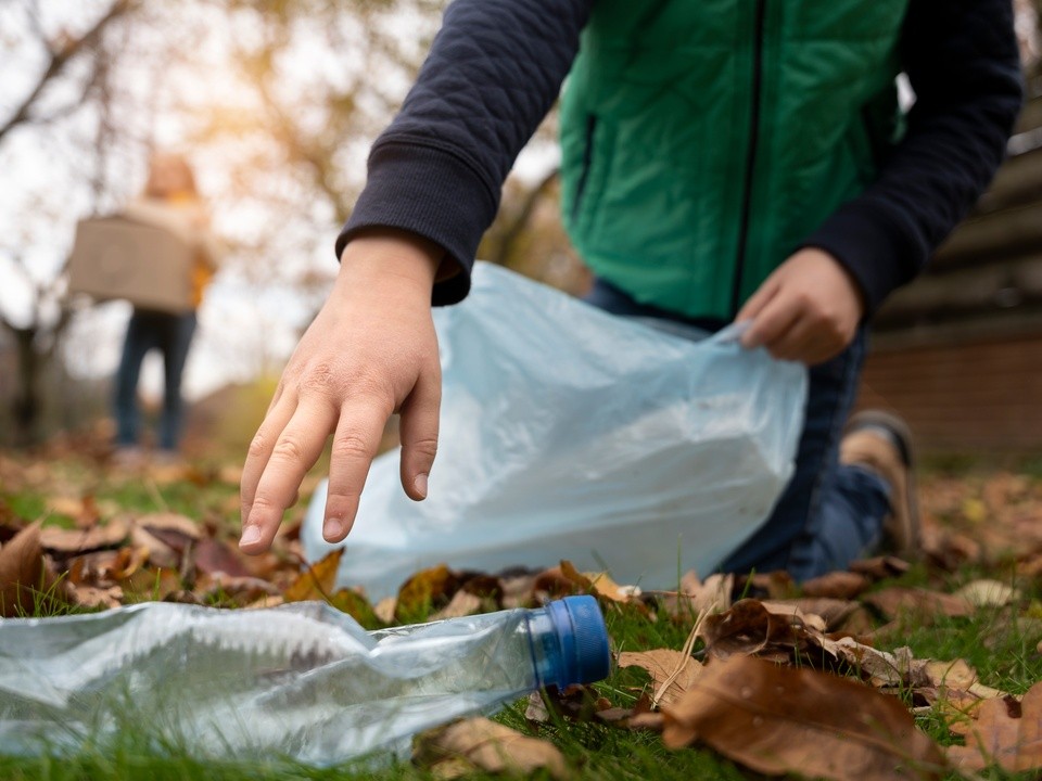
[{"label": "reddish-brown brick lower part of the wall behind the shoe", "polygon": [[1042,451],[1042,335],[874,348],[859,407],[903,415],[926,450]]}]

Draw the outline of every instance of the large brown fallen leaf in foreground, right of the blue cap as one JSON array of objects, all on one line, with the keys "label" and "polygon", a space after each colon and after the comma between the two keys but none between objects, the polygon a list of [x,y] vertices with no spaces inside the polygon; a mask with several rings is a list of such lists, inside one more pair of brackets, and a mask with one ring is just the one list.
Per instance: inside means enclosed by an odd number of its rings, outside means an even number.
[{"label": "large brown fallen leaf in foreground, right of the blue cap", "polygon": [[746,656],[713,662],[665,709],[663,742],[698,740],[762,773],[846,781],[939,778],[944,757],[894,697]]}]

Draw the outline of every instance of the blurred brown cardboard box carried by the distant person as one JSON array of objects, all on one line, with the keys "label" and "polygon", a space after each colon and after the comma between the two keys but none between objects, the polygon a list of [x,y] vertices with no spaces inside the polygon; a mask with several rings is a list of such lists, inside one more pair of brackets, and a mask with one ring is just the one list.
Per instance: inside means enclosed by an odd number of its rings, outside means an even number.
[{"label": "blurred brown cardboard box carried by the distant person", "polygon": [[193,308],[195,248],[183,233],[127,216],[81,220],[68,264],[69,293],[141,309]]}]

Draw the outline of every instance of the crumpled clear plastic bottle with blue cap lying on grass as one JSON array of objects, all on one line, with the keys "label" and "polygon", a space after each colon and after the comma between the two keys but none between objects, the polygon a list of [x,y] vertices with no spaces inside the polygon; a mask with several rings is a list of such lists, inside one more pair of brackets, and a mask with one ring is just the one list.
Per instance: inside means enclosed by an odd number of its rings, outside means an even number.
[{"label": "crumpled clear plastic bottle with blue cap lying on grass", "polygon": [[319,602],[0,619],[0,753],[125,732],[160,752],[328,766],[609,667],[592,597],[372,632]]}]

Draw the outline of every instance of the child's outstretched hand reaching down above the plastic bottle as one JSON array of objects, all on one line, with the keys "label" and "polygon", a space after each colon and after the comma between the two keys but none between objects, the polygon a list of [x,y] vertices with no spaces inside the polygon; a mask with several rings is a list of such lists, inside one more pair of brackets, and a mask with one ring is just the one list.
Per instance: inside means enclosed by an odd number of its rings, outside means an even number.
[{"label": "child's outstretched hand reaching down above the plastic bottle", "polygon": [[329,299],[282,372],[242,474],[246,553],[266,551],[333,435],[323,536],[342,540],[384,424],[402,415],[402,485],[427,496],[441,405],[431,287],[444,253],[402,233],[352,241]]}]

